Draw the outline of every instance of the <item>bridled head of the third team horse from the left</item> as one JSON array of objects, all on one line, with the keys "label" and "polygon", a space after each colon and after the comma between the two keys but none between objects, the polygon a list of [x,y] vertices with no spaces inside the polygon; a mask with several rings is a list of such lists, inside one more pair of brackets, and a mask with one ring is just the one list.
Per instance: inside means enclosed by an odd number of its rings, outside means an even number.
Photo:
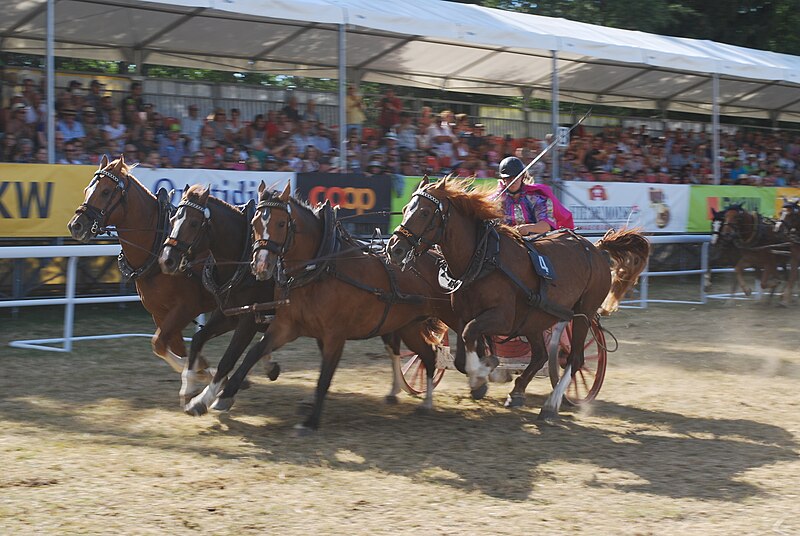
[{"label": "bridled head of the third team horse from the left", "polygon": [[250,269],[256,279],[266,281],[275,273],[278,259],[292,247],[295,223],[290,204],[291,184],[280,194],[258,187],[258,205],[253,216],[253,262]]}]

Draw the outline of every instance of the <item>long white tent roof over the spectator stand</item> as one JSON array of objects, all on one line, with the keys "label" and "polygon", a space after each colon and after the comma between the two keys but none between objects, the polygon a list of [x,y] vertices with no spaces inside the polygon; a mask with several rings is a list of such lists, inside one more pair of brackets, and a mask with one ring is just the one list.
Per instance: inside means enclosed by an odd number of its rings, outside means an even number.
[{"label": "long white tent roof over the spectator stand", "polygon": [[[0,0],[4,51],[44,53],[45,0]],[[58,0],[56,54],[800,121],[800,58],[440,0]]]}]

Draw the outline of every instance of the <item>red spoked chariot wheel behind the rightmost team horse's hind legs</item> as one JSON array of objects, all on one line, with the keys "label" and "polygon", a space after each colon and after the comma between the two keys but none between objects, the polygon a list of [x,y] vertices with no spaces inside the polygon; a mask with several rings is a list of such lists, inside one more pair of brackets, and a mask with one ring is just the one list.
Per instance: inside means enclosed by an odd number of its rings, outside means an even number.
[{"label": "red spoked chariot wheel behind the rightmost team horse's hind legs", "polygon": [[[582,322],[582,319],[578,320]],[[567,366],[567,358],[572,348],[572,321],[559,323],[553,327],[553,337],[548,345],[548,370],[550,383],[556,386]],[[606,338],[600,326],[592,321],[591,328],[586,333],[584,341],[583,367],[572,377],[572,382],[564,393],[564,401],[572,406],[591,402],[600,392],[603,379],[606,375],[608,353],[606,352]]]}]

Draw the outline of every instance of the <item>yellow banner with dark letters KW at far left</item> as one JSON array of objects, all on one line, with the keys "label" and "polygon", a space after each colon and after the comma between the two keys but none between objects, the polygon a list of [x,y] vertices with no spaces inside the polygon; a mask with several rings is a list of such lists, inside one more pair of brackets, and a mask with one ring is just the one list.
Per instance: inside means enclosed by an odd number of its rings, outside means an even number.
[{"label": "yellow banner with dark letters KW at far left", "polygon": [[0,164],[0,237],[69,236],[94,166]]}]

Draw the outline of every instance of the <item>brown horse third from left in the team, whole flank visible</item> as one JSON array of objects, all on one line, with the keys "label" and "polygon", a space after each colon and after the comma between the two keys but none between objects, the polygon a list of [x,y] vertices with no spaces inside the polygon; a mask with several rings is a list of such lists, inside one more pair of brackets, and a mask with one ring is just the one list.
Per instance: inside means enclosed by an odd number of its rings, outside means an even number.
[{"label": "brown horse third from left in the team, whole flank visible", "polygon": [[425,363],[428,390],[421,408],[430,409],[436,355],[444,334],[444,326],[435,318],[448,321],[447,315],[453,316],[449,300],[431,297],[437,295],[435,278],[400,272],[378,255],[363,251],[341,231],[327,204],[315,212],[290,197],[289,185],[278,194],[261,184],[252,225],[253,273],[260,279],[274,274],[275,296],[288,298],[289,304],[278,308],[264,338],[250,349],[222,393],[220,384],[212,382],[204,401],[219,394],[211,407],[228,409],[262,352],[297,337],[313,337],[322,367],[311,413],[297,428],[315,430],[345,342],[396,332]]}]

